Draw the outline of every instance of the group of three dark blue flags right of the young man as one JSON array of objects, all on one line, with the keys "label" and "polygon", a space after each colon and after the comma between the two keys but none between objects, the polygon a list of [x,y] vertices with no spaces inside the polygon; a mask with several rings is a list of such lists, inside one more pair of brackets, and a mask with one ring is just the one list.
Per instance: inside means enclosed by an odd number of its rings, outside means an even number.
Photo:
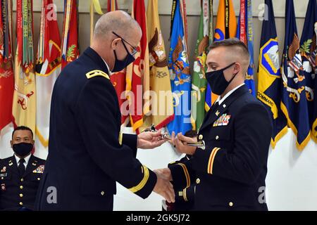
[{"label": "group of three dark blue flags right of the young man", "polygon": [[272,1],[266,0],[266,6],[257,96],[273,116],[272,146],[290,127],[297,136],[297,148],[303,150],[311,138],[317,142],[317,98],[314,98],[314,90],[317,89],[317,3],[316,0],[309,0],[302,37],[299,39],[294,1],[286,1],[282,65]]}]

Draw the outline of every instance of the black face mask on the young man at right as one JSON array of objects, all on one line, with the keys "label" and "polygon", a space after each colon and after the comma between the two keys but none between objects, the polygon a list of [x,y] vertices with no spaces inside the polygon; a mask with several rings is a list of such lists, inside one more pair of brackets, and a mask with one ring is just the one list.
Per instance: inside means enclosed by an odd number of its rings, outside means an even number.
[{"label": "black face mask on the young man at right", "polygon": [[232,80],[235,79],[235,76],[237,76],[237,73],[236,73],[228,82],[225,79],[225,75],[223,75],[223,71],[227,70],[232,65],[235,65],[235,63],[232,63],[221,70],[206,72],[206,79],[211,87],[211,91],[214,94],[218,96],[220,96],[220,94],[223,94],[223,92],[225,92],[225,89],[227,89],[227,87],[232,82]]}]

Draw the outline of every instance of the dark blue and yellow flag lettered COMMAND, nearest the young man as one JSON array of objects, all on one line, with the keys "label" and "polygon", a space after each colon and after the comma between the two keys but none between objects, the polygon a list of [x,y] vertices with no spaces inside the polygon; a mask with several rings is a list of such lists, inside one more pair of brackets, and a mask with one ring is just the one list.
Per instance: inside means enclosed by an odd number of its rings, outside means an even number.
[{"label": "dark blue and yellow flag lettered COMMAND, nearest the young man", "polygon": [[278,35],[276,34],[272,0],[266,0],[265,4],[267,8],[262,24],[257,98],[272,113],[273,134],[271,146],[275,148],[276,142],[287,132],[287,122],[280,109],[280,57],[278,55]]}]

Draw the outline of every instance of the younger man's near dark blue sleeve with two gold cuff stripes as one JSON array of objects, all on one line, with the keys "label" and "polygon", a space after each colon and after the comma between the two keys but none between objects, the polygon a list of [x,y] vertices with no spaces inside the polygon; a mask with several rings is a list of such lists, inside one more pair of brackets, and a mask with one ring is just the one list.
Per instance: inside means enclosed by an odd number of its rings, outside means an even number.
[{"label": "younger man's near dark blue sleeve with two gold cuff stripes", "polygon": [[272,135],[272,122],[260,104],[245,105],[235,118],[234,147],[197,148],[192,167],[199,171],[253,184],[267,162]]}]

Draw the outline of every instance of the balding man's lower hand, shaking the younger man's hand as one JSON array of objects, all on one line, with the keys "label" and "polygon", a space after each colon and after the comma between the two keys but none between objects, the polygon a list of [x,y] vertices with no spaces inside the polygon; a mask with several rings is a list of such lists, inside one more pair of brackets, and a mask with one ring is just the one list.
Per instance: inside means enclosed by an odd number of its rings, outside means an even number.
[{"label": "balding man's lower hand, shaking the younger man's hand", "polygon": [[157,181],[153,191],[165,198],[168,203],[175,203],[175,192],[173,189],[173,185],[170,184],[170,181],[164,179],[163,176],[159,174],[159,172],[154,172],[156,173]]}]

